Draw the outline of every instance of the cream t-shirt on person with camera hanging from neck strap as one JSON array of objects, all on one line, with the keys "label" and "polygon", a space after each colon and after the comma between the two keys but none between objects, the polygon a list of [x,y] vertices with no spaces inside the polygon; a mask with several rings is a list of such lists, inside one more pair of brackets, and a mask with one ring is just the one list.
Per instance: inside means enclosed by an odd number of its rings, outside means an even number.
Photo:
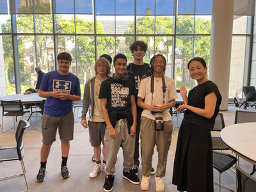
[{"label": "cream t-shirt on person with camera hanging from neck strap", "polygon": [[[177,99],[177,92],[175,87],[175,82],[173,79],[164,76],[166,92],[164,93],[163,98],[163,83],[162,77],[154,77],[154,93],[153,93],[153,102],[152,102],[152,93],[150,92],[151,86],[151,77],[147,77],[142,79],[138,97],[145,99],[144,102],[146,104],[166,104],[170,100]],[[163,102],[164,100],[164,102]],[[165,109],[163,111],[163,120],[169,121],[171,120],[171,115],[169,113],[170,109]],[[148,109],[144,109],[141,113],[141,116],[145,116],[149,119],[155,120],[155,116],[151,114],[151,111]]]}]

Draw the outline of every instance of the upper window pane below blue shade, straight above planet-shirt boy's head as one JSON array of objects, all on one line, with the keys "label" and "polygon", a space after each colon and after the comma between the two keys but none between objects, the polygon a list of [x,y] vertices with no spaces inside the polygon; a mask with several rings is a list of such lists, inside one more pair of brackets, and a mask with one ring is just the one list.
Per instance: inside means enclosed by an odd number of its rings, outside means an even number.
[{"label": "upper window pane below blue shade, straight above planet-shirt boy's head", "polygon": [[116,16],[116,34],[134,34],[134,16]]}]

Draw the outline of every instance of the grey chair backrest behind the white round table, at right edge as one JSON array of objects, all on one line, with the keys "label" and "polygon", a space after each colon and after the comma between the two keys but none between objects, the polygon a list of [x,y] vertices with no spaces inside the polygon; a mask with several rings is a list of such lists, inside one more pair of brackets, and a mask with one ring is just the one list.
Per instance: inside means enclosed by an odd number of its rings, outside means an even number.
[{"label": "grey chair backrest behind the white round table, at right edge", "polygon": [[256,122],[256,111],[236,111],[235,124]]}]

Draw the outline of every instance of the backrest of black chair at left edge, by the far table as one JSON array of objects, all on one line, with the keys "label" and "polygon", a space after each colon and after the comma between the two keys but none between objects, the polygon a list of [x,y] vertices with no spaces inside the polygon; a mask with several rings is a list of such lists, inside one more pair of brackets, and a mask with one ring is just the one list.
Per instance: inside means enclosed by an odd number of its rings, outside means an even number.
[{"label": "backrest of black chair at left edge, by the far table", "polygon": [[1,106],[4,112],[23,113],[23,106],[21,100],[1,100]]}]

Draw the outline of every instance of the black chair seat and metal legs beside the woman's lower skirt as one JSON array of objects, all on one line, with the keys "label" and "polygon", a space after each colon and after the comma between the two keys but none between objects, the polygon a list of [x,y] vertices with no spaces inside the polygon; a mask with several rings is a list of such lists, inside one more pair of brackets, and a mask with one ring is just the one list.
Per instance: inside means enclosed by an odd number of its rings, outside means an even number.
[{"label": "black chair seat and metal legs beside the woman's lower skirt", "polygon": [[219,182],[214,182],[214,184],[218,184],[218,186],[220,187],[220,191],[221,191],[221,188],[234,191],[234,189],[228,188],[227,186],[224,186],[221,184],[221,173],[230,169],[237,162],[237,158],[234,156],[231,156],[230,154],[225,154],[223,152],[217,152],[217,151],[213,151],[212,158],[213,158],[213,167],[219,172]]}]

